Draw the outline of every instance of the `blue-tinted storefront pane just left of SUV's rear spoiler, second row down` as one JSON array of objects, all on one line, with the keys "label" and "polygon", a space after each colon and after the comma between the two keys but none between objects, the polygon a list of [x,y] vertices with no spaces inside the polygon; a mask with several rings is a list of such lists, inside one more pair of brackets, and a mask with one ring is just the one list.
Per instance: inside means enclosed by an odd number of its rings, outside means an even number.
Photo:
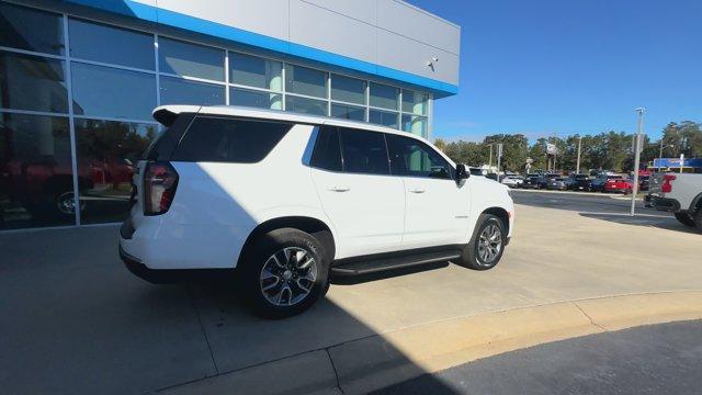
[{"label": "blue-tinted storefront pane just left of SUV's rear spoiler, second row down", "polygon": [[71,64],[73,113],[150,120],[156,108],[156,76],[111,67]]}]

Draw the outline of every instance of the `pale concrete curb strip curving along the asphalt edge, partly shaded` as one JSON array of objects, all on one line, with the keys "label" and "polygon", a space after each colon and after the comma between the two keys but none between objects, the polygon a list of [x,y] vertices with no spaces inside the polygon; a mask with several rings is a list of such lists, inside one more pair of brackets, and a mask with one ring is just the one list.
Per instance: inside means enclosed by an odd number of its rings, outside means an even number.
[{"label": "pale concrete curb strip curving along the asphalt edge, partly shaded", "polygon": [[635,326],[700,318],[702,291],[556,302],[421,324],[159,392],[364,394],[507,351]]}]

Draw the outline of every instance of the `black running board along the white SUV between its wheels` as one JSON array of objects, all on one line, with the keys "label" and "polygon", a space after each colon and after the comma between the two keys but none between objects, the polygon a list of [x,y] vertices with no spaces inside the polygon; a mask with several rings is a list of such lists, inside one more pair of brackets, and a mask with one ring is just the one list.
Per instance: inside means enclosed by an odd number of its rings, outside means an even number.
[{"label": "black running board along the white SUV between its wheels", "polygon": [[420,264],[444,262],[461,258],[455,249],[416,253],[394,253],[377,257],[354,258],[353,260],[337,261],[331,266],[333,275],[361,275],[386,270],[404,269]]}]

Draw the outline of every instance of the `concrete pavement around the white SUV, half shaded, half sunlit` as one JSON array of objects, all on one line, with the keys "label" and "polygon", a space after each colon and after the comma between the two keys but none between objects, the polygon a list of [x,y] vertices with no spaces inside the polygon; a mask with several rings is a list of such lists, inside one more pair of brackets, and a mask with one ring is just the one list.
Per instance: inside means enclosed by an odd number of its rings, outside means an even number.
[{"label": "concrete pavement around the white SUV, half shaded, half sunlit", "polygon": [[[10,393],[339,386],[356,393],[479,358],[485,341],[502,343],[490,349],[499,352],[529,343],[516,339],[550,341],[689,318],[702,308],[699,294],[686,292],[702,291],[702,244],[682,226],[529,206],[518,206],[517,216],[495,270],[449,266],[333,285],[326,301],[280,321],[252,317],[227,290],[134,278],[116,257],[115,227],[1,235],[0,386]],[[630,294],[657,302],[607,298]],[[675,307],[677,300],[686,302]],[[639,314],[616,324],[629,312]],[[570,323],[565,329],[559,317]]]}]

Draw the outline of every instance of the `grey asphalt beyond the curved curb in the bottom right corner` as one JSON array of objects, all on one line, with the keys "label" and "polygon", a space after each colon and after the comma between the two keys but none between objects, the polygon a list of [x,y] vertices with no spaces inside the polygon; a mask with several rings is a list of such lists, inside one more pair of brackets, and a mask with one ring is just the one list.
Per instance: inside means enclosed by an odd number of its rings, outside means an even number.
[{"label": "grey asphalt beyond the curved curb in the bottom right corner", "polygon": [[462,364],[375,394],[699,394],[701,338],[700,320],[590,335]]}]

